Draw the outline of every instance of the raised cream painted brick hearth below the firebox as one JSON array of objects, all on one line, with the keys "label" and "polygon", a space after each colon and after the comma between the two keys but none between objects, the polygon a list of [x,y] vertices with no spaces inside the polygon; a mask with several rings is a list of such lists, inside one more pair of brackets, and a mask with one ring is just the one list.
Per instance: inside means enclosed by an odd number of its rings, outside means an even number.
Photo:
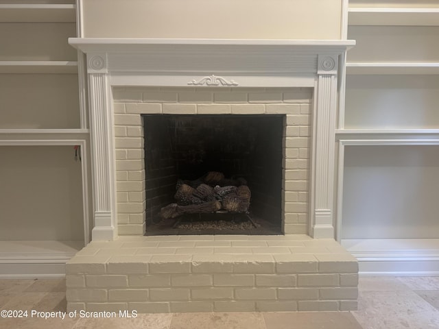
[{"label": "raised cream painted brick hearth below the firebox", "polygon": [[351,254],[305,234],[123,236],[67,264],[69,310],[355,310],[357,284]]}]

